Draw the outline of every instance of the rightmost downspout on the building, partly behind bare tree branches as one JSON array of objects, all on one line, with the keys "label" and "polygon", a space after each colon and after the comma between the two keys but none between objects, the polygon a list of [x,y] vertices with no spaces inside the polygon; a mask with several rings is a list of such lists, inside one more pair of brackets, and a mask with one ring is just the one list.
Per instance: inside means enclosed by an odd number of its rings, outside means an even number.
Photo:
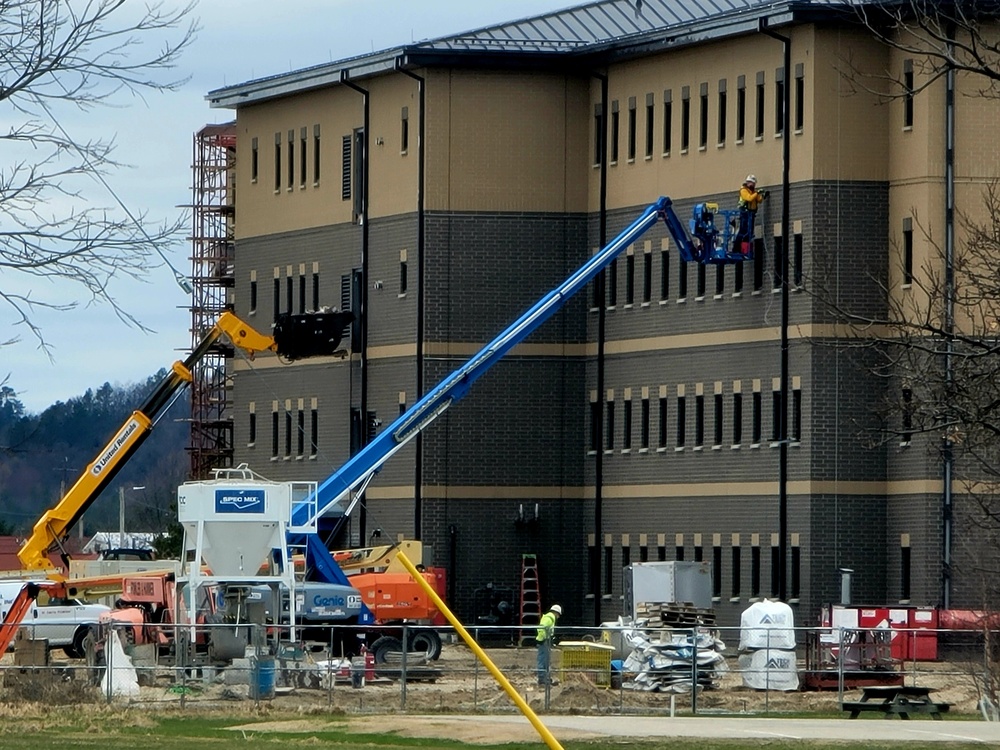
[{"label": "rightmost downspout on the building, partly behind bare tree branches", "polygon": [[[955,38],[955,24],[948,25],[945,35]],[[949,59],[954,52],[954,42],[948,42]],[[954,388],[954,341],[955,330],[955,68],[949,65],[945,75],[945,176],[944,176],[944,327],[945,327],[945,398],[950,401]],[[947,408],[947,407],[946,407]],[[941,549],[941,606],[951,608],[951,547],[953,525],[953,498],[951,492],[955,468],[955,454],[950,436],[943,438],[942,480],[942,549]]]}]

